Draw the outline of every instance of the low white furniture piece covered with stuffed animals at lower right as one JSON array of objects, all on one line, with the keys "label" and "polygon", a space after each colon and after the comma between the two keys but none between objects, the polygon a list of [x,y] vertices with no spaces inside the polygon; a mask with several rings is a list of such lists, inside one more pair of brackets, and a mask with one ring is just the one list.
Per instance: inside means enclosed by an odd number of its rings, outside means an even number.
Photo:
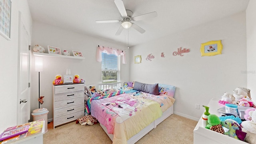
[{"label": "low white furniture piece covered with stuffed animals at lower right", "polygon": [[[221,113],[218,112],[219,108],[222,108],[218,104],[219,99],[213,98],[210,100],[209,107],[210,114],[216,114],[221,116]],[[202,127],[202,119],[200,119],[194,129],[194,144],[248,144],[242,140],[236,140],[230,136],[214,132]]]}]

